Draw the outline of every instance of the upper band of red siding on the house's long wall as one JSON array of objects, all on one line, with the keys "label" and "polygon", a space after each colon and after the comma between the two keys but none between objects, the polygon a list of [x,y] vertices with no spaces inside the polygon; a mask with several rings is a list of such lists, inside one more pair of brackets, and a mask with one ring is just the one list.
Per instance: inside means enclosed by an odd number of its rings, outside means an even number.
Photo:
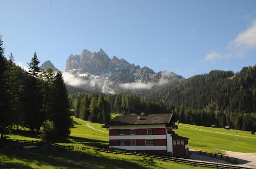
[{"label": "upper band of red siding on the house's long wall", "polygon": [[[120,135],[119,129],[109,130],[110,135]],[[152,135],[166,134],[165,128],[152,128]],[[124,129],[124,135],[131,135],[131,129]],[[135,135],[147,135],[147,129],[135,129]]]}]

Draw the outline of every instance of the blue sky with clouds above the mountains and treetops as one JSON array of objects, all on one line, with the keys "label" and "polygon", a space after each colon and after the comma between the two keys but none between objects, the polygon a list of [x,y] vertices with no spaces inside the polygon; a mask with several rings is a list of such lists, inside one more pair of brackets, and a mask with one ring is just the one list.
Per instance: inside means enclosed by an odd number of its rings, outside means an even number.
[{"label": "blue sky with clouds above the mountains and treetops", "polygon": [[0,16],[5,56],[25,67],[34,51],[65,70],[100,48],[185,78],[256,64],[256,1],[0,0]]}]

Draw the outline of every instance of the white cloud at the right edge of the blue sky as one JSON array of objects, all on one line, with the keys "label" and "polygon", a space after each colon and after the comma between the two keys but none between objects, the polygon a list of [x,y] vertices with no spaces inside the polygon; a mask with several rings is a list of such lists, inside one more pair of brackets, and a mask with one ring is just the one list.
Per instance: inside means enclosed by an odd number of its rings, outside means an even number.
[{"label": "white cloud at the right edge of the blue sky", "polygon": [[256,20],[228,44],[227,53],[212,51],[204,59],[205,61],[216,61],[231,57],[244,58],[245,53],[254,48],[256,48]]}]

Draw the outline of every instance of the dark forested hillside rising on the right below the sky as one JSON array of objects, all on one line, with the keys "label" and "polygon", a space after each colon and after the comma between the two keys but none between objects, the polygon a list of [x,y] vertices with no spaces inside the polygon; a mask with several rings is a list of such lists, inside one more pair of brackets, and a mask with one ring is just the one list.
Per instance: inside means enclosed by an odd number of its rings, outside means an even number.
[{"label": "dark forested hillside rising on the right below the sky", "polygon": [[244,67],[236,74],[214,70],[196,75],[165,90],[162,96],[151,97],[187,108],[256,112],[256,66]]}]

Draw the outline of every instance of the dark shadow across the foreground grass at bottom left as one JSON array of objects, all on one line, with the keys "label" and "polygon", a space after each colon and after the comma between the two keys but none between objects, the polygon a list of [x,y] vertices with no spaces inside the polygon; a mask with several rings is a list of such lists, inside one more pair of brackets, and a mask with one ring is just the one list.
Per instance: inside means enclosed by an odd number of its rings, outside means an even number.
[{"label": "dark shadow across the foreground grass at bottom left", "polygon": [[[4,158],[3,158],[4,157]],[[118,157],[118,156],[116,156]],[[79,151],[40,151],[3,149],[0,151],[1,167],[33,168],[146,168],[124,159],[113,159],[97,153]],[[139,160],[136,160],[140,163]]]}]

